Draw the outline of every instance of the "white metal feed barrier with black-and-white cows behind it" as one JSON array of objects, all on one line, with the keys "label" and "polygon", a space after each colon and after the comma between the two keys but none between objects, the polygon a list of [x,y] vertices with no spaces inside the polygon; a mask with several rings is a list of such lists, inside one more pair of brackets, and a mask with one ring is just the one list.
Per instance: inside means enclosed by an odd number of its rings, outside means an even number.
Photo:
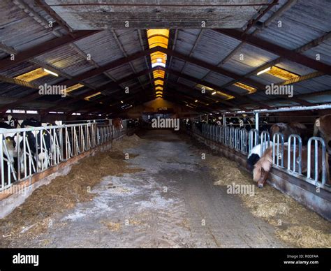
[{"label": "white metal feed barrier with black-and-white cows behind it", "polygon": [[126,133],[111,120],[82,124],[0,129],[0,191]]}]

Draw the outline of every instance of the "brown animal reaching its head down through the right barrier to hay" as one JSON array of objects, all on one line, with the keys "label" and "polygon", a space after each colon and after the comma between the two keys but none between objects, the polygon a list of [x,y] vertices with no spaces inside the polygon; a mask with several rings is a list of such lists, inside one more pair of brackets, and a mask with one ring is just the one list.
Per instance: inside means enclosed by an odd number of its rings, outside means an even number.
[{"label": "brown animal reaching its head down through the right barrier to hay", "polygon": [[[311,145],[311,173],[314,175],[314,153],[315,153],[315,147],[314,145]],[[296,149],[295,157],[297,158],[299,154],[299,150]],[[302,147],[302,158],[301,158],[301,169],[302,174],[307,173],[307,147]],[[322,173],[322,149],[318,148],[318,174],[321,175]],[[288,146],[284,146],[284,166],[287,166],[288,163]],[[290,159],[292,161],[293,159],[293,150],[290,151]],[[277,157],[276,157],[277,161]],[[296,164],[298,166],[299,161],[296,161]],[[330,177],[329,177],[329,163],[328,163],[328,154],[326,154],[325,157],[325,167],[326,167],[326,182],[330,184]],[[267,177],[270,173],[270,170],[272,168],[272,147],[269,147],[265,150],[265,153],[263,156],[261,156],[260,160],[255,164],[254,170],[253,170],[253,180],[258,183],[258,187],[262,188],[265,184],[265,181],[267,180]]]}]

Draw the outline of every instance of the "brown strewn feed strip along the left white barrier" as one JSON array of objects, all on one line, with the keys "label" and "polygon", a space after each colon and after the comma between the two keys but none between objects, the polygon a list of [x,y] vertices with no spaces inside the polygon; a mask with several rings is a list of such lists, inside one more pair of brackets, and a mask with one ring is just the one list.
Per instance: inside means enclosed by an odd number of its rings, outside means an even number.
[{"label": "brown strewn feed strip along the left white barrier", "polygon": [[[77,203],[93,200],[91,189],[109,175],[136,173],[140,168],[128,167],[122,149],[141,142],[135,134],[113,142],[112,149],[97,152],[75,163],[68,175],[56,177],[48,185],[40,186],[4,219],[0,219],[0,247],[8,247],[13,240],[25,241],[44,233],[55,214],[64,213]],[[128,154],[131,158],[137,154]],[[84,168],[84,170],[82,170]]]}]

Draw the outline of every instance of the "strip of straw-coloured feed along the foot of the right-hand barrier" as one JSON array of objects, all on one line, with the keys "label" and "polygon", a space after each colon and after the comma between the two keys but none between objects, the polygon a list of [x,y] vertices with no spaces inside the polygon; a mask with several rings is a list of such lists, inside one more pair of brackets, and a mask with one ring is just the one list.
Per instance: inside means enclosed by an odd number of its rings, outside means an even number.
[{"label": "strip of straw-coloured feed along the foot of the right-hand barrier", "polygon": [[243,204],[251,213],[276,226],[276,235],[294,247],[328,247],[331,248],[331,223],[323,217],[301,205],[286,194],[266,185],[258,189],[251,174],[241,170],[239,165],[226,157],[219,156],[196,140],[190,144],[198,147],[199,153],[206,153],[205,166],[212,169],[216,182],[214,185],[233,184],[252,185],[253,196],[238,193]]}]

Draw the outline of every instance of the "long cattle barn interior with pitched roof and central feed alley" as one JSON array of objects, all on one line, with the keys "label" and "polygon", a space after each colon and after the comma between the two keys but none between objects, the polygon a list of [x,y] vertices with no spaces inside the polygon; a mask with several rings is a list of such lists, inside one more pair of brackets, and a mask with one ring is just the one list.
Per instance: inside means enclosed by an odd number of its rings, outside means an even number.
[{"label": "long cattle barn interior with pitched roof and central feed alley", "polygon": [[[1,0],[0,247],[331,247],[330,142],[314,134],[330,18],[327,0]],[[293,122],[314,170],[288,159],[258,189],[251,138]],[[29,131],[50,133],[46,164]]]}]

